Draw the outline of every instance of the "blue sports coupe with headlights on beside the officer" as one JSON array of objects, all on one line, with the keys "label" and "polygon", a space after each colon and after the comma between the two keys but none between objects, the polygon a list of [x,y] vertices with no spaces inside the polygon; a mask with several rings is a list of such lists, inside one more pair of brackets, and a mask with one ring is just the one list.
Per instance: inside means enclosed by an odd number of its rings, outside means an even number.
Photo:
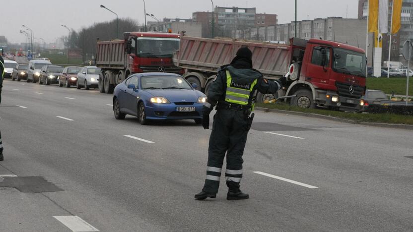
[{"label": "blue sports coupe with headlights on beside the officer", "polygon": [[158,119],[195,119],[202,123],[207,96],[182,76],[173,73],[136,73],[115,87],[113,112],[116,119],[137,116],[140,124]]}]

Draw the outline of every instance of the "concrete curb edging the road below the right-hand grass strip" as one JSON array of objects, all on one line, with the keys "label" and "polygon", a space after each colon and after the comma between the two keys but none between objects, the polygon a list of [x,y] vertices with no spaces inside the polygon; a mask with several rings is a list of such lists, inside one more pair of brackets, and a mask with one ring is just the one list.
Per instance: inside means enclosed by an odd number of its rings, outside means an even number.
[{"label": "concrete curb edging the road below the right-hand grass strip", "polygon": [[289,114],[289,115],[296,115],[296,116],[314,117],[314,118],[326,119],[326,120],[331,120],[331,121],[346,122],[346,123],[351,123],[351,124],[360,124],[360,125],[367,125],[367,126],[377,126],[377,127],[413,130],[413,125],[406,125],[406,124],[390,124],[390,123],[379,123],[379,122],[359,122],[359,121],[356,121],[356,120],[350,120],[350,119],[345,119],[345,118],[340,118],[340,117],[318,115],[318,114],[312,114],[312,113],[302,113],[302,112],[295,112],[295,111],[276,110],[276,109],[269,109],[269,108],[263,108],[263,107],[256,107],[255,109],[259,110],[259,111],[264,111],[264,112],[274,112],[274,113],[279,113],[279,114]]}]

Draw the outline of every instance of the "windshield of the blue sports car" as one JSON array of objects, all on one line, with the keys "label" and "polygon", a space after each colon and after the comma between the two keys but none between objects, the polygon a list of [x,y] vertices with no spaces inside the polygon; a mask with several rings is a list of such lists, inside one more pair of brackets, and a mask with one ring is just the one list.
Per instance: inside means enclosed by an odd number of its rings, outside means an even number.
[{"label": "windshield of the blue sports car", "polygon": [[142,89],[191,89],[180,76],[146,76],[141,80]]}]

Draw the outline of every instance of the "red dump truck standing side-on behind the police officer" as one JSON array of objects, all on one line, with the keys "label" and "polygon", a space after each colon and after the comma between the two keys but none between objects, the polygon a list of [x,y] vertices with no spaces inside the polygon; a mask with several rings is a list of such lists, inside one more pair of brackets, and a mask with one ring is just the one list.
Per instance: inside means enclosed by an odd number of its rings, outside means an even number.
[{"label": "red dump truck standing side-on behind the police officer", "polygon": [[207,92],[218,68],[228,64],[241,47],[253,53],[253,66],[268,79],[287,76],[288,85],[277,95],[258,94],[264,102],[282,96],[293,106],[358,111],[365,92],[364,50],[327,40],[292,38],[289,45],[257,41],[181,37],[174,55],[185,78]]}]

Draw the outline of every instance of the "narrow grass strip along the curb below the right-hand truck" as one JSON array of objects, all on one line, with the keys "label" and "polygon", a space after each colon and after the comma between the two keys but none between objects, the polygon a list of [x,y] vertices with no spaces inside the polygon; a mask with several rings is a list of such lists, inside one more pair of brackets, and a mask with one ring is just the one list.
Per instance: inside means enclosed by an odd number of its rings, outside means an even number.
[{"label": "narrow grass strip along the curb below the right-hand truck", "polygon": [[360,114],[360,113],[349,113],[349,112],[341,112],[341,111],[330,111],[330,110],[324,110],[324,109],[304,109],[300,107],[292,107],[289,104],[285,104],[285,103],[276,103],[276,104],[258,103],[256,106],[268,108],[268,109],[275,109],[275,110],[294,111],[294,112],[302,112],[302,113],[307,113],[307,114],[333,116],[333,117],[353,120],[355,122],[379,122],[379,123],[390,123],[390,124],[413,125],[413,117],[404,116],[404,115]]}]

